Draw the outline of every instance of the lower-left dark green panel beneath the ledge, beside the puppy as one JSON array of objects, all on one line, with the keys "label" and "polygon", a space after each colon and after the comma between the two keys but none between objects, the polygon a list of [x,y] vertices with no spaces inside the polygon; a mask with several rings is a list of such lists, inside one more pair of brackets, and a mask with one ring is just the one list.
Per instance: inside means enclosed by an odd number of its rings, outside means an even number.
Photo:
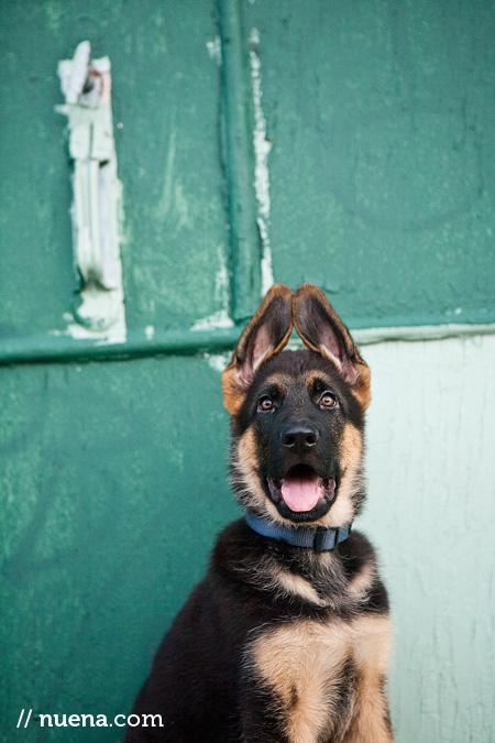
[{"label": "lower-left dark green panel beneath the ledge, beside the puppy", "polygon": [[1,737],[36,712],[130,713],[166,625],[237,515],[202,359],[2,369]]}]

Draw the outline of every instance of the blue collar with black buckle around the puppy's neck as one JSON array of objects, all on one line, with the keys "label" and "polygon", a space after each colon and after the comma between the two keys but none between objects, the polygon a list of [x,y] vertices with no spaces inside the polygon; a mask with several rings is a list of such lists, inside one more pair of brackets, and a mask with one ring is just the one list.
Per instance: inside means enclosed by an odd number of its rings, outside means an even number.
[{"label": "blue collar with black buckle around the puppy's neck", "polygon": [[245,523],[253,532],[257,532],[262,536],[271,537],[272,539],[282,539],[293,547],[308,547],[317,553],[322,553],[327,549],[334,549],[337,545],[351,533],[351,524],[349,526],[336,526],[324,528],[323,526],[285,526],[285,524],[275,524],[267,518],[257,516],[255,513],[248,511],[245,514]]}]

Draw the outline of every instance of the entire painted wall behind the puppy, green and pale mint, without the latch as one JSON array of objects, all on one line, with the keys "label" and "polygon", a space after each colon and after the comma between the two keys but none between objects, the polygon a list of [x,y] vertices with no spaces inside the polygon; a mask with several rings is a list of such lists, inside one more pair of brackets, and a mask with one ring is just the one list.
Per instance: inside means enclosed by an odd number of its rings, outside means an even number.
[{"label": "entire painted wall behind the puppy, green and pale mint, without the latch", "polygon": [[[219,370],[261,296],[252,29],[275,281],[319,284],[359,329],[493,324],[495,9],[0,10],[0,740],[110,743],[110,728],[15,724],[22,708],[128,713],[216,533],[239,513]],[[221,65],[207,47],[218,35]],[[77,282],[56,66],[85,39],[112,62],[118,346],[64,335]],[[233,324],[215,327],[218,316]],[[495,735],[491,341],[364,352],[375,401],[362,524],[393,597],[389,693],[404,743]]]}]

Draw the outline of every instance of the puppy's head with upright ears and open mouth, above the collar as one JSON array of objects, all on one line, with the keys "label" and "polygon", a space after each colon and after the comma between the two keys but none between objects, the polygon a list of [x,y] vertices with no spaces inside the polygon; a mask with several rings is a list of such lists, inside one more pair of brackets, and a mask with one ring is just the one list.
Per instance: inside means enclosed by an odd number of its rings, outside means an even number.
[{"label": "puppy's head with upright ears and open mouth, above the collar", "polygon": [[[283,351],[293,323],[307,349]],[[241,504],[286,524],[349,524],[364,496],[370,370],[324,294],[275,285],[222,375]]]}]

